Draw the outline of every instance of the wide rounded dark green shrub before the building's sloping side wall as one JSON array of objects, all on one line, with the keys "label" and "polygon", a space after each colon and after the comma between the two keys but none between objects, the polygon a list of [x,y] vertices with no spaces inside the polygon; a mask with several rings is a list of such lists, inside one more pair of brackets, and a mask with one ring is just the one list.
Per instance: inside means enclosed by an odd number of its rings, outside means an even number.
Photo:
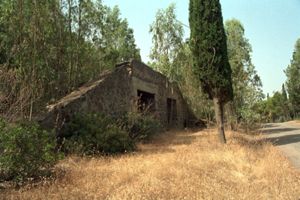
[{"label": "wide rounded dark green shrub before the building's sloping side wall", "polygon": [[135,148],[128,133],[111,117],[103,114],[77,114],[67,124],[63,151],[66,153],[115,154]]}]

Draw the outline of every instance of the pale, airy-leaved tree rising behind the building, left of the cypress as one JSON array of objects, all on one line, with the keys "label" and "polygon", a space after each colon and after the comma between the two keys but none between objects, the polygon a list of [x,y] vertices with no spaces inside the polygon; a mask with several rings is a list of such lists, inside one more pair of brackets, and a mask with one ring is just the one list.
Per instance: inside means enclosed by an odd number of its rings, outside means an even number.
[{"label": "pale, airy-leaved tree rising behind the building, left of the cypress", "polygon": [[179,82],[182,66],[176,62],[183,48],[183,27],[176,19],[175,4],[156,13],[155,21],[150,25],[153,47],[151,66],[166,75],[169,80]]}]

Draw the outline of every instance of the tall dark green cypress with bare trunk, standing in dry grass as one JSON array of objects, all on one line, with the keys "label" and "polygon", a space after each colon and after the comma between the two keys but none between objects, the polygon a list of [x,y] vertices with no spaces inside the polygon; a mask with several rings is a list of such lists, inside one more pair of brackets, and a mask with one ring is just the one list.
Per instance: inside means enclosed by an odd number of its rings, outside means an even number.
[{"label": "tall dark green cypress with bare trunk, standing in dry grass", "polygon": [[224,133],[224,104],[233,98],[231,68],[219,0],[190,0],[190,45],[194,73],[214,102],[220,140]]}]

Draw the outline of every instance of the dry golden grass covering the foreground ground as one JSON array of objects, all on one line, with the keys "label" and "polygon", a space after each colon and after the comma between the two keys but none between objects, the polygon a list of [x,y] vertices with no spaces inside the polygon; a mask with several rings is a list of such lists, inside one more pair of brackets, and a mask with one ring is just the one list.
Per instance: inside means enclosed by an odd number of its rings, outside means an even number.
[{"label": "dry golden grass covering the foreground ground", "polygon": [[[0,199],[299,199],[300,173],[259,136],[166,133],[136,153],[69,157],[63,178]],[[0,191],[1,192],[1,191]]]}]

